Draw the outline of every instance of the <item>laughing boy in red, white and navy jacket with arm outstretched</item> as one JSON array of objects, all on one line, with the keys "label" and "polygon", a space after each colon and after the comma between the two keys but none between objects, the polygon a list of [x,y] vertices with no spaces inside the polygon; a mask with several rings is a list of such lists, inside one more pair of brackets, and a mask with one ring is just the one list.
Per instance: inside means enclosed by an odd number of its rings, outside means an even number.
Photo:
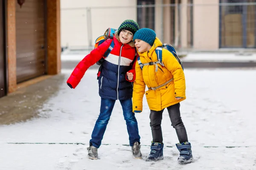
[{"label": "laughing boy in red, white and navy jacket with arm outstretched", "polygon": [[114,42],[112,51],[101,65],[102,69],[99,75],[101,107],[89,142],[90,147],[87,148],[90,159],[98,159],[98,148],[101,145],[116,100],[119,100],[122,105],[133,156],[139,159],[142,157],[138,124],[132,111],[131,100],[132,82],[135,79],[133,61],[137,59],[133,36],[138,30],[139,25],[134,20],[125,20],[116,31],[113,40],[106,40],[93,49],[79,62],[67,80],[70,88],[76,88],[85,71],[99,61],[110,47],[111,42]]}]

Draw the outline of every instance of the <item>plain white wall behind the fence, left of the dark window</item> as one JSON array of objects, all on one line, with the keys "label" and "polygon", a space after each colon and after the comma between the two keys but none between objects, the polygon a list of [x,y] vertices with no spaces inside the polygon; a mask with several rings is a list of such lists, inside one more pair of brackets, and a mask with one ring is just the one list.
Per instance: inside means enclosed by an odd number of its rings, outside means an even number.
[{"label": "plain white wall behind the fence, left of the dark window", "polygon": [[[137,21],[137,0],[61,0],[61,46],[87,48],[109,27],[127,19]],[[91,7],[91,25],[87,9]],[[73,8],[73,9],[72,9]],[[76,9],[74,9],[76,8]],[[80,8],[80,9],[79,9]],[[92,33],[88,34],[88,28]],[[91,41],[88,42],[88,40]]]}]

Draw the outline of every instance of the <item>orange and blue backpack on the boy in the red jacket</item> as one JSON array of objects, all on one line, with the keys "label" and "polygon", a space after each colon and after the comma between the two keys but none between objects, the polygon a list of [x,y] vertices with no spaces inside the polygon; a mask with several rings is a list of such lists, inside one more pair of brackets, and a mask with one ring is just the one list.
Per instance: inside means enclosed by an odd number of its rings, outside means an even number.
[{"label": "orange and blue backpack on the boy in the red jacket", "polygon": [[[104,42],[105,40],[108,40],[108,39],[113,39],[114,37],[114,34],[116,32],[116,29],[114,28],[108,28],[104,35],[102,36],[99,36],[98,38],[96,38],[95,40],[95,45],[94,45],[94,48],[97,48],[99,45],[102,44],[102,42]],[[102,62],[104,61],[104,59],[106,57],[108,57],[108,55],[110,54],[111,50],[114,48],[114,41],[111,42],[111,44],[109,45],[108,47],[108,50],[105,52],[105,54],[103,55],[103,57],[96,62],[97,65],[101,65]]]}]

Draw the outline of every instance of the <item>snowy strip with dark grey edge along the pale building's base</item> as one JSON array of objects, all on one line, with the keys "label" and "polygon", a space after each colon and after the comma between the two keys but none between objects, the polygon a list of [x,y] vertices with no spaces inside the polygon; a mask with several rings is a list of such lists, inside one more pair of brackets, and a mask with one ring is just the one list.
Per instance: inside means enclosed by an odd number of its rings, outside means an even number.
[{"label": "snowy strip with dark grey edge along the pale building's base", "polygon": [[[61,66],[74,69],[89,51],[64,51]],[[178,53],[179,54],[179,53]],[[252,52],[189,52],[181,58],[185,68],[256,68],[256,54]],[[92,68],[99,68],[93,65]]]}]

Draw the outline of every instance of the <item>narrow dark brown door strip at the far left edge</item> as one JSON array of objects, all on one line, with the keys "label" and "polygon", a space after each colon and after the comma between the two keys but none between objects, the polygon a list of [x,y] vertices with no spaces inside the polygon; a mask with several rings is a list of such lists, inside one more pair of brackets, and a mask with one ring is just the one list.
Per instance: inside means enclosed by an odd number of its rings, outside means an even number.
[{"label": "narrow dark brown door strip at the far left edge", "polygon": [[4,24],[3,24],[3,0],[0,0],[0,97],[6,95],[6,62],[5,62],[5,55],[4,55]]}]

